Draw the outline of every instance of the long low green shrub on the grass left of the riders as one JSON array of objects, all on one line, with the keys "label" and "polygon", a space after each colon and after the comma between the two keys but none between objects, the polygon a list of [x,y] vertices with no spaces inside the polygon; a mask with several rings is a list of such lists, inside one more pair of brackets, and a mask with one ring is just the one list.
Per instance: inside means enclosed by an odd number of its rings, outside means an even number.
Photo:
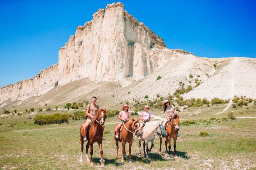
[{"label": "long low green shrub on the grass left of the riders", "polygon": [[54,115],[36,115],[34,117],[34,124],[62,124],[67,123],[69,115],[67,113],[60,114],[55,113]]}]

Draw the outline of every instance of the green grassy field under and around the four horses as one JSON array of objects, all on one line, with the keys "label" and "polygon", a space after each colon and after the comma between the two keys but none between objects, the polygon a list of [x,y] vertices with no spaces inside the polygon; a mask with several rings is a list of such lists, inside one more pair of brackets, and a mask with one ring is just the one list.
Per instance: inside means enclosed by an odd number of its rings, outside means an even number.
[{"label": "green grassy field under and around the four horses", "polygon": [[[110,130],[110,133],[104,135],[106,140],[103,141],[105,169],[256,169],[256,119],[221,119],[227,118],[229,112],[233,112],[236,117],[256,117],[255,105],[229,108],[225,113],[215,115],[226,106],[189,108],[180,112],[181,122],[190,120],[195,124],[180,126],[181,137],[177,139],[176,147],[178,158],[172,156],[171,159],[166,159],[165,154],[159,155],[159,138],[157,138],[149,155],[148,164],[144,158],[138,157],[137,137],[132,145],[133,162],[128,163],[126,160],[121,164],[121,144],[119,144],[119,159],[115,159],[116,149],[113,138],[115,124],[113,123],[117,122],[117,117],[107,118],[105,131]],[[37,114],[73,111],[52,110]],[[161,110],[155,109],[151,112],[154,115],[163,115]],[[85,120],[70,119],[68,124],[40,126],[34,124],[34,116],[22,113],[22,115],[8,114],[0,118],[0,169],[102,169],[97,144],[94,144],[94,166],[91,167],[85,161],[85,152],[83,163],[79,162],[79,127]],[[139,118],[139,115],[132,117]],[[209,136],[200,137],[199,133],[202,131],[207,132]],[[164,146],[162,151],[165,151]]]}]

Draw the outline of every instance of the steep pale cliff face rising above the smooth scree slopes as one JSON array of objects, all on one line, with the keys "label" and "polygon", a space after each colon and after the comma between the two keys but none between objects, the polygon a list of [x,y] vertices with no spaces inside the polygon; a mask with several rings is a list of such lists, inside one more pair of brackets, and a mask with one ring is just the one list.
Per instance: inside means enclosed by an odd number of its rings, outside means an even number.
[{"label": "steep pale cliff face rising above the smooth scree slopes", "polygon": [[55,65],[33,79],[0,88],[0,103],[39,96],[57,85],[89,77],[90,80],[141,79],[182,54],[170,50],[164,41],[137,21],[121,2],[99,9],[90,22],[77,26],[60,48]]}]

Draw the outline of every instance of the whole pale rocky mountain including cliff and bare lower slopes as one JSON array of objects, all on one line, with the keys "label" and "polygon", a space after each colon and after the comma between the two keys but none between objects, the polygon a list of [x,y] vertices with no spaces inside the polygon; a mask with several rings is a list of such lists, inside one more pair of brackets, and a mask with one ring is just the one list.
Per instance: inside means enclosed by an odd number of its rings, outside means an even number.
[{"label": "whole pale rocky mountain including cliff and bare lower slopes", "polygon": [[[189,76],[192,75],[193,77]],[[201,84],[183,97],[256,98],[256,59],[203,58],[168,49],[164,40],[124,11],[121,2],[99,9],[58,53],[58,63],[0,88],[0,108],[54,105],[97,95],[101,104],[166,96]],[[157,77],[162,78],[157,80]],[[128,91],[130,94],[128,95]],[[26,106],[25,106],[26,105]]]}]

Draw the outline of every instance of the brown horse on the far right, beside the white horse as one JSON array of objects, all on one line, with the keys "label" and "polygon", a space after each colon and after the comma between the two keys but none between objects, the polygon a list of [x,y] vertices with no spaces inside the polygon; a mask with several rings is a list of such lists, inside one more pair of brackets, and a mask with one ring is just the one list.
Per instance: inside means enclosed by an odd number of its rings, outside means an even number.
[{"label": "brown horse on the far right, beside the white horse", "polygon": [[[179,115],[173,115],[173,117],[171,118],[170,121],[167,122],[166,125],[166,133],[167,133],[167,137],[165,140],[165,153],[167,154],[167,159],[170,159],[170,155],[171,155],[171,139],[173,139],[173,148],[174,148],[174,152],[173,155],[174,157],[177,157],[176,155],[176,141],[177,141],[177,135],[178,132],[180,130],[180,118]],[[162,153],[162,137],[160,138],[160,149],[159,149],[159,153]],[[168,149],[169,152],[167,151],[167,142],[168,142]]]}]

